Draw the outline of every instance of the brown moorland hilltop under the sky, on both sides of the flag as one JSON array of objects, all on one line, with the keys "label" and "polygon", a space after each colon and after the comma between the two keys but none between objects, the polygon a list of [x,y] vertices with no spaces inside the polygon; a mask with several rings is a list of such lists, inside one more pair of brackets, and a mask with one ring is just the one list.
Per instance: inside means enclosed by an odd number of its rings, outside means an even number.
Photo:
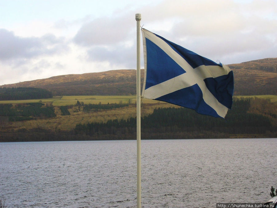
[{"label": "brown moorland hilltop under the sky, on both sides of the flag", "polygon": [[[277,95],[277,58],[228,65],[235,76],[235,95]],[[144,70],[141,70],[141,84]],[[53,76],[47,79],[6,84],[1,87],[35,87],[53,95],[134,95],[136,70]]]}]

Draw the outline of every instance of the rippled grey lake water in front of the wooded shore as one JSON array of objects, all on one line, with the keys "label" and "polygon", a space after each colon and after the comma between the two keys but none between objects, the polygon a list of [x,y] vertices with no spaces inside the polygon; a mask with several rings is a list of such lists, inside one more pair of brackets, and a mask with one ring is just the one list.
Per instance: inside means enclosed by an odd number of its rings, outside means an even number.
[{"label": "rippled grey lake water in front of the wooded shore", "polygon": [[[142,140],[142,207],[266,202],[277,139]],[[0,143],[8,207],[136,207],[136,141]]]}]

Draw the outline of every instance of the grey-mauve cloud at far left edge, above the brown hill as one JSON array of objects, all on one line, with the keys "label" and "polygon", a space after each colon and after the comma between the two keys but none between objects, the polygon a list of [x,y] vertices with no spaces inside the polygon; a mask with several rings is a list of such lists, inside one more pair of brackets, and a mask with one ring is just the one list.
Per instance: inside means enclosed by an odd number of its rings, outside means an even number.
[{"label": "grey-mauve cloud at far left edge, above the brown hill", "polygon": [[63,38],[46,34],[38,37],[18,37],[13,32],[0,29],[0,60],[13,58],[32,58],[38,55],[51,55],[65,51]]}]

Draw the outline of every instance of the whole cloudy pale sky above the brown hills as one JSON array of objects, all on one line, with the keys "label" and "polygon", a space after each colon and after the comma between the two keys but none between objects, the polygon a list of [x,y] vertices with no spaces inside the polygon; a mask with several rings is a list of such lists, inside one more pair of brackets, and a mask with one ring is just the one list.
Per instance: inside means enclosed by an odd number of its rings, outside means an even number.
[{"label": "whole cloudy pale sky above the brown hills", "polygon": [[136,69],[136,13],[218,63],[277,57],[276,0],[0,0],[0,85]]}]

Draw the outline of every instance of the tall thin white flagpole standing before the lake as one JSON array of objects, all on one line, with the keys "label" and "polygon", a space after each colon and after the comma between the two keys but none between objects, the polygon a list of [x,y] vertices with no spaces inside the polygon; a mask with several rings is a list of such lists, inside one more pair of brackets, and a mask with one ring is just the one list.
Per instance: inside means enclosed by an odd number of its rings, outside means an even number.
[{"label": "tall thin white flagpole standing before the lake", "polygon": [[141,14],[136,14],[137,21],[137,207],[141,207],[141,150],[140,150],[140,20]]}]

